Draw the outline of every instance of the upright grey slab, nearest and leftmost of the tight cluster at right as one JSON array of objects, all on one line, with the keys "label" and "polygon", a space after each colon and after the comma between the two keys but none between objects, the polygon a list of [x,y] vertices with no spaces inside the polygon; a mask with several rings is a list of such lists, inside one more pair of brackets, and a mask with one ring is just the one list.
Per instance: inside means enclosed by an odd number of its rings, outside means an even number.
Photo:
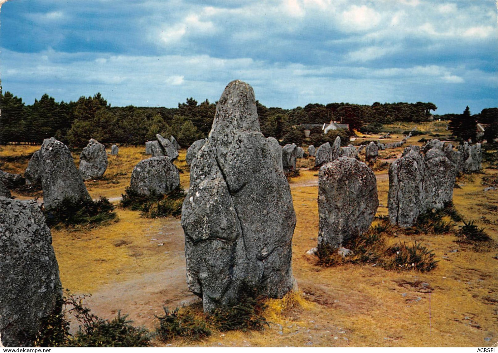
[{"label": "upright grey slab, nearest and leftmost of the tight cluster at right", "polygon": [[424,161],[422,155],[410,147],[405,148],[403,157],[394,161],[389,168],[389,219],[392,224],[402,228],[411,227],[416,221],[424,197]]}]

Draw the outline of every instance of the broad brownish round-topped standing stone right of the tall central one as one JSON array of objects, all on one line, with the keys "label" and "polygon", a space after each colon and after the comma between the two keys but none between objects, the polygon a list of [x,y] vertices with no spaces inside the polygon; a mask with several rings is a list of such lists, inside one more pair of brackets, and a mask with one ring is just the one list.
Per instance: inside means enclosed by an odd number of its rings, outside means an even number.
[{"label": "broad brownish round-topped standing stone right of the tall central one", "polygon": [[378,207],[377,182],[363,162],[341,157],[318,174],[318,246],[339,248],[366,232]]}]

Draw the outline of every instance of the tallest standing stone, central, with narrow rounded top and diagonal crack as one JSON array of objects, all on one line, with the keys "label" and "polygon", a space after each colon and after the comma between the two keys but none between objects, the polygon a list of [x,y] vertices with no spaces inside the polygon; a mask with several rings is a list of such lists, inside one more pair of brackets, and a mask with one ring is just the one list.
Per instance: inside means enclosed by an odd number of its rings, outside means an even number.
[{"label": "tallest standing stone, central, with narrow rounded top and diagonal crack", "polygon": [[236,304],[246,288],[281,298],[293,287],[296,216],[274,156],[259,129],[252,88],[231,82],[192,163],[182,208],[187,283],[205,312]]}]

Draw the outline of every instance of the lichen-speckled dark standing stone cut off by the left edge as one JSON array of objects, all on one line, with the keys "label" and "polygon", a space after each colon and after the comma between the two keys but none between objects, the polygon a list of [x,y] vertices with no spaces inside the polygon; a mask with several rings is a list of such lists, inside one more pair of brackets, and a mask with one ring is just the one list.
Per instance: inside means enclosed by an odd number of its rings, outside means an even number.
[{"label": "lichen-speckled dark standing stone cut off by the left edge", "polygon": [[0,197],[0,283],[1,342],[32,347],[43,321],[62,309],[52,236],[34,200]]}]

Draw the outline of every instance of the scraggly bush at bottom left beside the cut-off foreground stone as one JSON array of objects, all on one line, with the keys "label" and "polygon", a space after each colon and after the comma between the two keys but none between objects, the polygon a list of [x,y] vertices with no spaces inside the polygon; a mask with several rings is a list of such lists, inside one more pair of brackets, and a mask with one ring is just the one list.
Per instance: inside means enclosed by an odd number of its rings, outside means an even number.
[{"label": "scraggly bush at bottom left beside the cut-off foreground stone", "polygon": [[[150,347],[147,329],[130,325],[127,315],[122,316],[121,312],[111,321],[99,318],[83,305],[83,300],[87,297],[75,296],[66,291],[63,299],[64,312],[47,319],[44,329],[35,340],[35,346]],[[79,330],[74,336],[69,333],[67,314],[71,314],[79,323]]]}]

